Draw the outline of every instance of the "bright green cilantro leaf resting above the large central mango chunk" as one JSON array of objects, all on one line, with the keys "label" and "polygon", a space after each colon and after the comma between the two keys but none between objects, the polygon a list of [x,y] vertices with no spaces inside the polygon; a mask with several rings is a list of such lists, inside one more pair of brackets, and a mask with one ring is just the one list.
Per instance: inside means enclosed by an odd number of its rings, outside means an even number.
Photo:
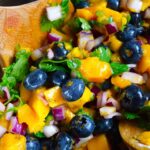
[{"label": "bright green cilantro leaf resting above the large central mango chunk", "polygon": [[111,59],[111,51],[107,47],[99,46],[95,49],[91,55],[91,57],[98,57],[102,61],[109,62]]}]

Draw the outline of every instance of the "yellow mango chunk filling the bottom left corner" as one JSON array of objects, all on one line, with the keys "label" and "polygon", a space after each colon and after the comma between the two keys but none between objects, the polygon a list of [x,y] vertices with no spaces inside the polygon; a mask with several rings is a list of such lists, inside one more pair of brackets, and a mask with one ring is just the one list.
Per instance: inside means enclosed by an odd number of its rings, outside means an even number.
[{"label": "yellow mango chunk filling the bottom left corner", "polygon": [[2,150],[26,150],[26,138],[20,134],[7,133],[0,139]]}]

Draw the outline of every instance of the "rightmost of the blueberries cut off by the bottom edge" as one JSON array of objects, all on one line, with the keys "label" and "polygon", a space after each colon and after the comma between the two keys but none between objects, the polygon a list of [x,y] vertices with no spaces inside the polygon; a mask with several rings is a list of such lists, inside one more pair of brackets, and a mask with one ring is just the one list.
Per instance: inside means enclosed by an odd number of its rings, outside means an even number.
[{"label": "rightmost of the blueberries cut off by the bottom edge", "polygon": [[55,139],[55,150],[72,150],[73,139],[65,132],[61,132]]}]

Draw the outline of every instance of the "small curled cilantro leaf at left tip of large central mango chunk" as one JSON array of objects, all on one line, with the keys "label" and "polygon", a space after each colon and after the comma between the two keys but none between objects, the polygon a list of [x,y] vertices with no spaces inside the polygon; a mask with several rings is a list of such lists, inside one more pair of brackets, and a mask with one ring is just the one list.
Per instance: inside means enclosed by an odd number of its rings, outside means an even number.
[{"label": "small curled cilantro leaf at left tip of large central mango chunk", "polygon": [[67,66],[70,69],[77,69],[81,66],[81,61],[77,58],[67,60]]}]

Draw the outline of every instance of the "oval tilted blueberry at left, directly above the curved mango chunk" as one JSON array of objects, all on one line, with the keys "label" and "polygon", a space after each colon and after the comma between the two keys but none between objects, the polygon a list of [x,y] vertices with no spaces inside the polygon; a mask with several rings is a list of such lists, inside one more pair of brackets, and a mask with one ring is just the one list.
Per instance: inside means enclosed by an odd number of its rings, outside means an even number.
[{"label": "oval tilted blueberry at left, directly above the curved mango chunk", "polygon": [[34,90],[44,85],[46,80],[47,74],[43,70],[37,69],[26,77],[24,80],[24,86],[28,90]]}]

